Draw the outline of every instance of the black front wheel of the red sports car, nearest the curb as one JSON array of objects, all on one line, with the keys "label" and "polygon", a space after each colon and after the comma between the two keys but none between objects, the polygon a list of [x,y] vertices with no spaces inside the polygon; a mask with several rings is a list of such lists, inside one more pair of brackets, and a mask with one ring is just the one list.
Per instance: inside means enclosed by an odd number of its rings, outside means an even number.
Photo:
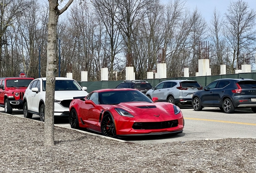
[{"label": "black front wheel of the red sports car, nearest the curb", "polygon": [[107,137],[116,138],[116,126],[111,115],[105,115],[101,121],[101,133]]}]

